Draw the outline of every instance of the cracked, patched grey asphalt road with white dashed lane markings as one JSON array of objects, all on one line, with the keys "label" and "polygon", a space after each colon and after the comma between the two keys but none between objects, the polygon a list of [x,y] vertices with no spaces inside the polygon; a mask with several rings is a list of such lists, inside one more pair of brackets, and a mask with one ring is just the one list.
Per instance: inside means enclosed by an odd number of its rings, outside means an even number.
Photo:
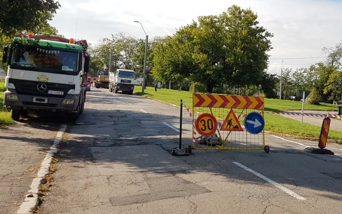
[{"label": "cracked, patched grey asphalt road with white dashed lane markings", "polygon": [[[183,114],[183,142],[192,124]],[[179,108],[92,88],[69,127],[43,214],[337,214],[342,146],[266,135],[263,150],[193,150],[171,156]]]}]

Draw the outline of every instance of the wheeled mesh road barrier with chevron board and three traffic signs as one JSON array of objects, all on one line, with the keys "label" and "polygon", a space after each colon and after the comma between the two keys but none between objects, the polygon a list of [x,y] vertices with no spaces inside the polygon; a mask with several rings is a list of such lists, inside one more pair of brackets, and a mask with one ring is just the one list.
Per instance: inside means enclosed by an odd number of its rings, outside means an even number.
[{"label": "wheeled mesh road barrier with chevron board and three traffic signs", "polygon": [[[194,149],[264,149],[264,98],[193,94]],[[192,114],[193,113],[193,114]],[[243,119],[244,117],[244,119]]]}]

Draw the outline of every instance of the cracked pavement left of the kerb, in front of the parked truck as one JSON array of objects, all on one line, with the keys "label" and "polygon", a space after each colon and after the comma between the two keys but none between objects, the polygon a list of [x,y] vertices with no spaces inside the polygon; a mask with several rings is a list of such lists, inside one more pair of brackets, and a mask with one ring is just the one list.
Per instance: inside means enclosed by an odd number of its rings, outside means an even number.
[{"label": "cracked pavement left of the kerb, in front of the parked truck", "polygon": [[30,189],[59,124],[21,120],[0,129],[0,213],[15,214]]}]

